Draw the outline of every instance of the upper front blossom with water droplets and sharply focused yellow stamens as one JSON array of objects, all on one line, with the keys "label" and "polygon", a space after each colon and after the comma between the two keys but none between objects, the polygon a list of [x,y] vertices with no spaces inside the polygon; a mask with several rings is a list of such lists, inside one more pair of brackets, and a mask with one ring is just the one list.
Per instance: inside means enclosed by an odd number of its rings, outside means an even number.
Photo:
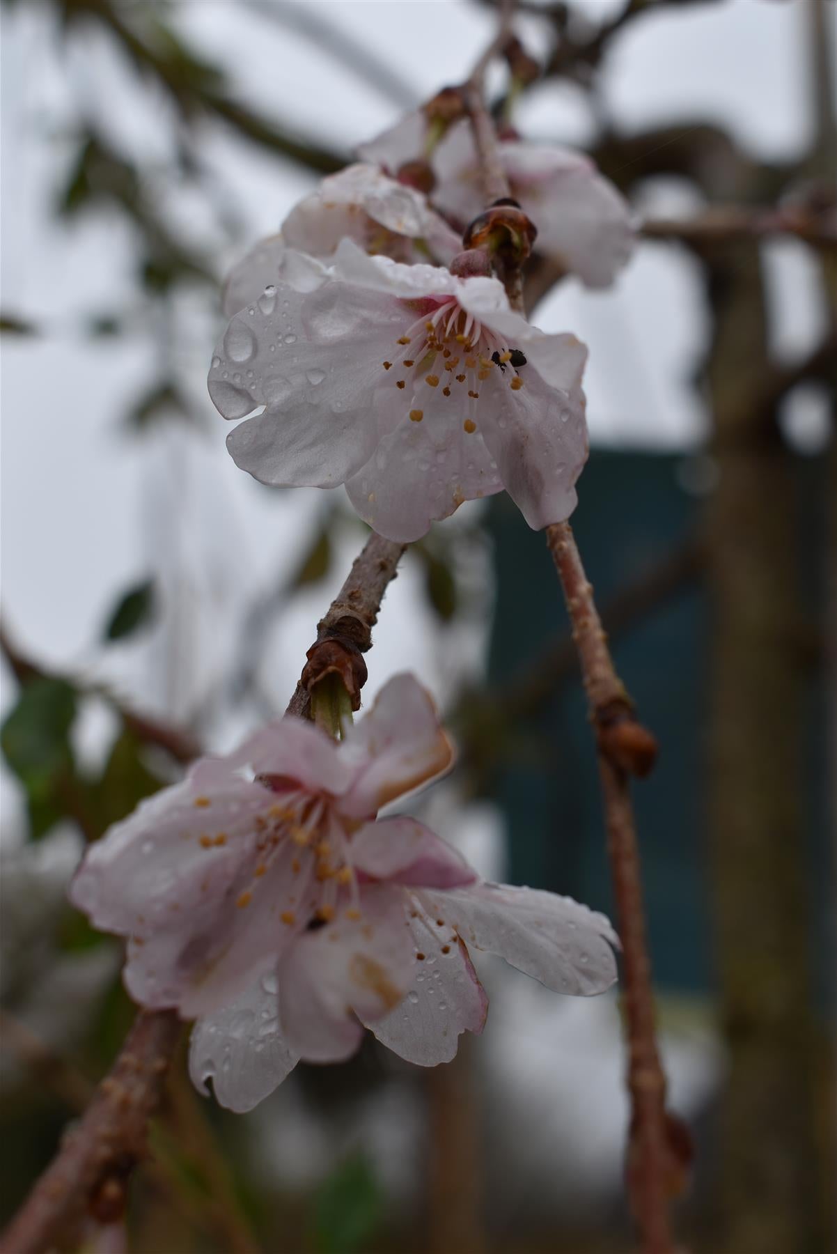
[{"label": "upper front blossom with water droplets and sharply focused yellow stamens", "polygon": [[237,314],[209,395],[227,446],[276,485],[346,484],[382,535],[413,540],[506,489],[530,527],[563,522],[588,455],[584,346],[545,335],[495,278],[368,257],[350,240]]}]

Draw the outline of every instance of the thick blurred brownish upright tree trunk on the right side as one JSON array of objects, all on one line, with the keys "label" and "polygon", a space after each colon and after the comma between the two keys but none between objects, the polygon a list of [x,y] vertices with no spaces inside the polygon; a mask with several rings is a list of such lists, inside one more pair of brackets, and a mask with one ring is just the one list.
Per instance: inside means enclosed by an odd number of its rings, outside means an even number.
[{"label": "thick blurred brownish upright tree trunk on the right side", "polygon": [[754,398],[767,371],[756,246],[713,253],[708,384],[718,489],[710,858],[723,1035],[722,1248],[821,1254],[809,903],[801,813],[797,527],[792,455]]}]

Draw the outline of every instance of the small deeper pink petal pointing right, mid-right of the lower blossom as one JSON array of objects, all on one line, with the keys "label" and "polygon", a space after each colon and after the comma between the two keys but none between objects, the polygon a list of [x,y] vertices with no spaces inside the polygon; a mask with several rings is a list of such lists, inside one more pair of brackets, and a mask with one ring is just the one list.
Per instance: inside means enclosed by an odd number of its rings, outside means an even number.
[{"label": "small deeper pink petal pointing right, mid-right of the lower blossom", "polygon": [[406,815],[365,824],[352,836],[351,860],[355,870],[398,884],[457,888],[476,880],[456,849]]}]

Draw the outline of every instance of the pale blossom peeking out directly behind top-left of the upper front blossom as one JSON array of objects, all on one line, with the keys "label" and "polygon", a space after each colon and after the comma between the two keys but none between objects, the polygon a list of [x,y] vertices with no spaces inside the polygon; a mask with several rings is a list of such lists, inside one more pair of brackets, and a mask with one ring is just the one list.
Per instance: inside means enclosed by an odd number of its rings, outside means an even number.
[{"label": "pale blossom peeking out directly behind top-left of the upper front blossom", "polygon": [[262,240],[233,267],[224,285],[224,314],[232,317],[253,305],[293,265],[294,252],[328,258],[343,237],[365,252],[405,263],[447,265],[462,247],[421,192],[377,166],[348,166],[325,178],[291,209],[278,234]]}]

